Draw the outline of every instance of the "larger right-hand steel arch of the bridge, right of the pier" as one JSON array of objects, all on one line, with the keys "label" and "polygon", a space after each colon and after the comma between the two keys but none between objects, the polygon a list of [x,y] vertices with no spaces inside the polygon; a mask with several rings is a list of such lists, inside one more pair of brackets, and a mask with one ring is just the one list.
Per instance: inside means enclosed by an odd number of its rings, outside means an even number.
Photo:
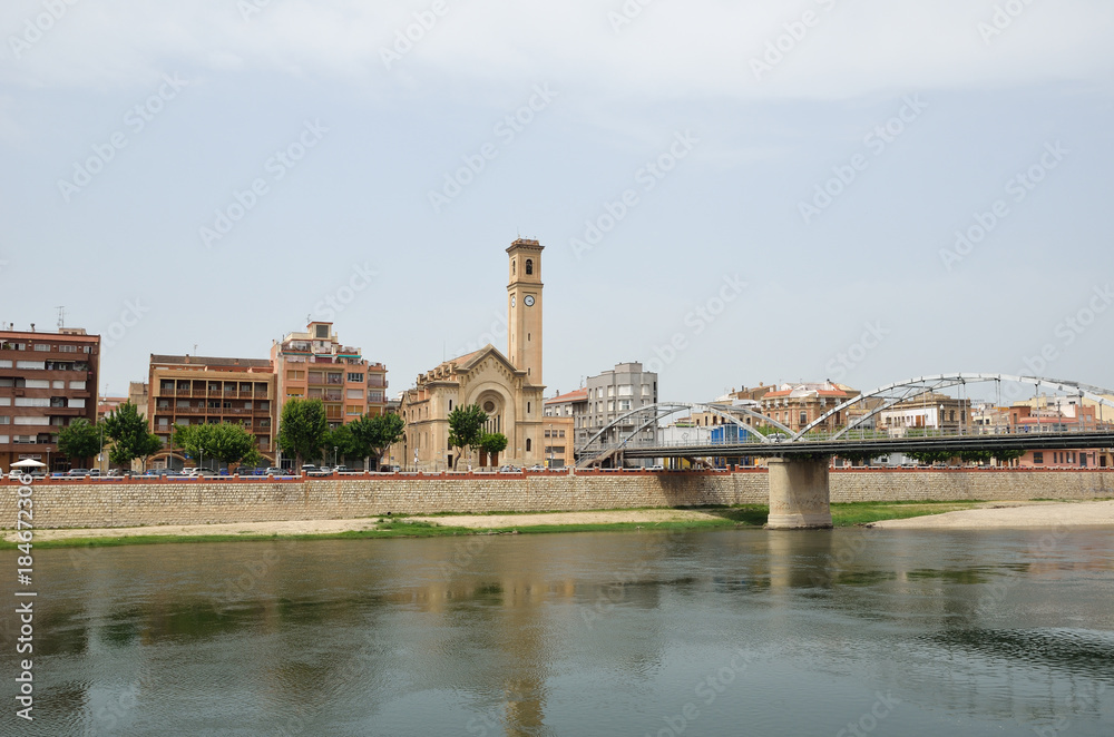
[{"label": "larger right-hand steel arch of the bridge, right of the pier", "polygon": [[951,389],[954,386],[966,386],[967,384],[979,384],[995,382],[1001,384],[1001,382],[1010,382],[1014,384],[1030,384],[1033,386],[1047,386],[1061,392],[1068,392],[1078,394],[1081,397],[1086,397],[1093,402],[1101,404],[1103,406],[1108,406],[1114,409],[1114,402],[1107,400],[1103,394],[1114,395],[1114,391],[1108,389],[1103,389],[1101,386],[1093,386],[1091,384],[1083,384],[1081,382],[1063,380],[1063,379],[1046,379],[1043,376],[1016,376],[1013,374],[981,374],[981,373],[955,373],[955,374],[932,374],[928,376],[919,376],[917,379],[907,379],[905,381],[893,382],[891,384],[886,384],[885,386],[879,386],[878,389],[871,390],[859,394],[858,396],[850,399],[842,404],[837,405],[832,410],[820,415],[808,425],[802,428],[799,432],[792,433],[791,440],[797,441],[803,439],[808,433],[818,426],[822,426],[829,419],[836,415],[838,412],[843,412],[849,407],[863,402],[869,399],[881,399],[874,407],[868,411],[866,414],[856,417],[853,422],[849,421],[847,425],[832,435],[832,440],[839,440],[849,431],[853,430],[856,426],[862,424],[867,420],[877,416],[879,413],[885,412],[895,404],[905,402],[907,400],[920,396],[928,392],[935,392],[944,389]]}]

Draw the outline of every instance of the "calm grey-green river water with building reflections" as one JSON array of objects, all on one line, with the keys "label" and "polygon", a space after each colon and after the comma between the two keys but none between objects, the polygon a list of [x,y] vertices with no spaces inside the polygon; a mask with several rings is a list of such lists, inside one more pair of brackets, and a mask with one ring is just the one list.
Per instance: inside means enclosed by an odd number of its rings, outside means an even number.
[{"label": "calm grey-green river water with building reflections", "polygon": [[850,529],[42,550],[35,721],[14,716],[8,613],[0,734],[1110,737],[1111,542]]}]

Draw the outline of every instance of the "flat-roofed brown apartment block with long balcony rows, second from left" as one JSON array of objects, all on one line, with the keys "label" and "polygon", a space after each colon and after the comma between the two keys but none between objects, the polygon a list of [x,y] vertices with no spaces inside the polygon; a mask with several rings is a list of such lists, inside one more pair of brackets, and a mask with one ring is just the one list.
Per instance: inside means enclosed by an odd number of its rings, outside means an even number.
[{"label": "flat-roofed brown apartment block with long balcony rows, second from left", "polygon": [[[176,425],[227,422],[243,425],[274,460],[275,376],[266,358],[152,355],[148,392],[148,423],[164,448]],[[167,450],[152,460],[158,469],[180,466],[185,458]]]}]

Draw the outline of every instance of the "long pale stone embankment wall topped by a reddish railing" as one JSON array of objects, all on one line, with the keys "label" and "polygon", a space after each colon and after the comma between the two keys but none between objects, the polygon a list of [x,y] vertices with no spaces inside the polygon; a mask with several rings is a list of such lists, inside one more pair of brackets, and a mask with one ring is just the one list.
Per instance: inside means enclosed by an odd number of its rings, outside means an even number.
[{"label": "long pale stone embankment wall topped by a reddish railing", "polygon": [[[14,527],[17,483],[0,498]],[[395,513],[632,509],[768,501],[766,473],[578,473],[349,476],[276,481],[38,481],[37,528],[206,524]],[[1114,471],[831,472],[832,501],[1094,499],[1114,497]]]}]

